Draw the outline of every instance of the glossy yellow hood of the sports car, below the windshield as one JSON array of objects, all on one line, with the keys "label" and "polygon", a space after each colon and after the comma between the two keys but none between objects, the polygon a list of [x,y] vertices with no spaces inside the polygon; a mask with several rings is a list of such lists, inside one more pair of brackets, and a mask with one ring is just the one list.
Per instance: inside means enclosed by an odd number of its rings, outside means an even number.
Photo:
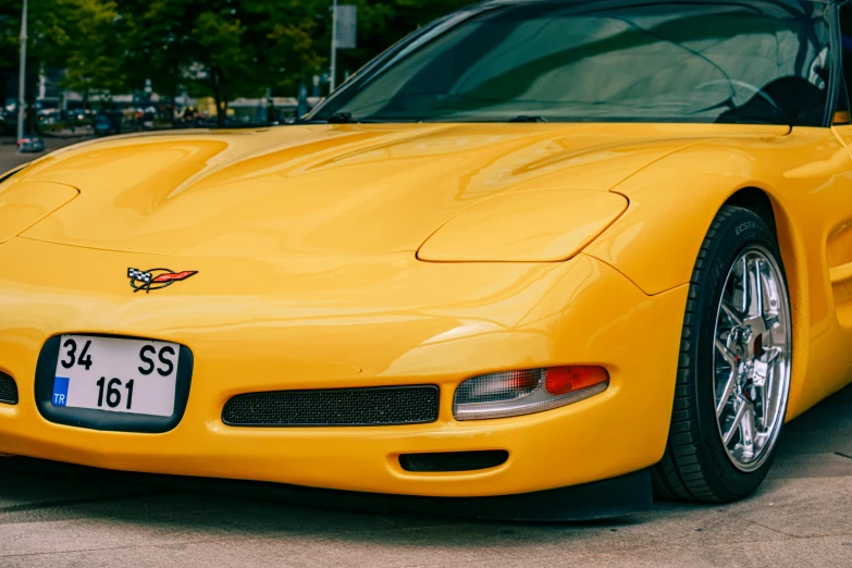
[{"label": "glossy yellow hood of the sports car, below the windshield", "polygon": [[27,183],[81,195],[22,236],[172,256],[416,251],[479,201],[606,192],[708,134],[694,125],[384,124],[115,138],[32,168]]}]

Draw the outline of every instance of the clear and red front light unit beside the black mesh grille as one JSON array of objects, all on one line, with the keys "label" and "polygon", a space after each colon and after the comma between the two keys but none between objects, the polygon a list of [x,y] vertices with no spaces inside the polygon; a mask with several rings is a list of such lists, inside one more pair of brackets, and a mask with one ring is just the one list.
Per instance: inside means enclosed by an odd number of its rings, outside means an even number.
[{"label": "clear and red front light unit beside the black mesh grille", "polygon": [[577,403],[609,386],[603,367],[552,367],[468,379],[456,388],[456,420],[531,415]]}]

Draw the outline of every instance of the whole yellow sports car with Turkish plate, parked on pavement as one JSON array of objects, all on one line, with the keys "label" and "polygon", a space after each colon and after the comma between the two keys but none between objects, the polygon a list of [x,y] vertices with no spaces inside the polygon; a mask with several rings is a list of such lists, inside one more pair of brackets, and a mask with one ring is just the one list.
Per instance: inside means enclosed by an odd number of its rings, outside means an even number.
[{"label": "whole yellow sports car with Turkish plate, parked on pavement", "polygon": [[850,10],[486,2],[295,125],[7,174],[0,452],[515,519],[749,495],[852,380]]}]

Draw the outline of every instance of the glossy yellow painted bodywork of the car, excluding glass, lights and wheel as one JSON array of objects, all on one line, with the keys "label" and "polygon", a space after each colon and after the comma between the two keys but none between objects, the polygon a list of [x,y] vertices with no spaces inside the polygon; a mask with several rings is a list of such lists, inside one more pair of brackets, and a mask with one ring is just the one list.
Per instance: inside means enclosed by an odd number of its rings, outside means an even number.
[{"label": "glossy yellow painted bodywork of the car, excluding glass, lights and wheel", "polygon": [[[827,260],[829,248],[852,258],[837,237],[852,222],[840,129],[318,125],[120,137],[54,153],[2,186],[64,184],[79,196],[52,213],[45,197],[49,214],[0,245],[0,370],[21,394],[0,405],[0,452],[416,495],[511,494],[635,471],[663,455],[699,248],[745,187],[771,200],[793,292],[794,416],[852,379],[849,297],[837,292],[845,268]],[[198,274],[134,294],[128,267]],[[49,337],[72,332],[189,347],[178,427],[150,435],[46,421],[36,360]],[[465,379],[564,365],[604,366],[610,387],[538,415],[453,418]],[[423,383],[441,388],[431,424],[221,420],[239,393]],[[506,449],[509,460],[428,474],[396,460],[472,449]]]}]

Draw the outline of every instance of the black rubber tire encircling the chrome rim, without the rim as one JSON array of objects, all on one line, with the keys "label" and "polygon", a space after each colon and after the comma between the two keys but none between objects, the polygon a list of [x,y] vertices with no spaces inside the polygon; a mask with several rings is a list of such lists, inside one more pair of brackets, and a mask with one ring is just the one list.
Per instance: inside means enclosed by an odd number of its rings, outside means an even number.
[{"label": "black rubber tire encircling the chrome rim, without the rim", "polygon": [[[748,209],[724,207],[711,225],[692,273],[668,442],[663,460],[653,469],[658,497],[705,503],[737,501],[752,494],[771,467],[777,437],[760,468],[744,472],[734,467],[723,444],[715,410],[713,351],[717,310],[733,262],[752,245],[775,257],[783,277],[777,239],[763,219]],[[789,313],[789,293],[786,295]],[[786,408],[786,397],[783,404]],[[778,428],[782,428],[783,420],[780,422]]]}]

